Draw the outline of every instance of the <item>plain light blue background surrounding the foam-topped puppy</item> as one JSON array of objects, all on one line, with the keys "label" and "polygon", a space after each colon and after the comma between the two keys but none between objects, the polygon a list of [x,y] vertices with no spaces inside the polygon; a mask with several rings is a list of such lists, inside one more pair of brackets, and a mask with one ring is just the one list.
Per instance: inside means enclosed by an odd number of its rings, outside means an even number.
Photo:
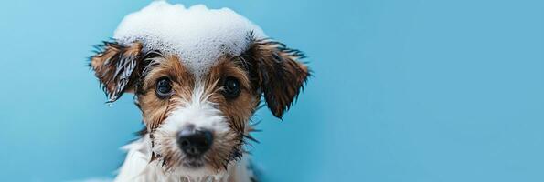
[{"label": "plain light blue background surrounding the foam-topped puppy", "polygon": [[[141,128],[87,64],[148,0],[0,5],[0,181],[113,177]],[[303,50],[315,76],[261,109],[266,181],[544,181],[544,2],[216,0]]]}]

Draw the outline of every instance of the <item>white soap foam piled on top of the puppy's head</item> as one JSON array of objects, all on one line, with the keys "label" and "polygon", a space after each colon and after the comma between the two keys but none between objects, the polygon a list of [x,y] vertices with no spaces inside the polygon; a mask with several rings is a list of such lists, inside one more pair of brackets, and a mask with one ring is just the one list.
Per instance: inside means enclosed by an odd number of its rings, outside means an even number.
[{"label": "white soap foam piled on top of the puppy's head", "polygon": [[185,66],[201,76],[219,56],[240,56],[256,38],[265,38],[261,27],[229,8],[205,5],[170,5],[155,1],[126,15],[113,38],[122,45],[140,41],[144,51],[159,50],[179,56]]}]

